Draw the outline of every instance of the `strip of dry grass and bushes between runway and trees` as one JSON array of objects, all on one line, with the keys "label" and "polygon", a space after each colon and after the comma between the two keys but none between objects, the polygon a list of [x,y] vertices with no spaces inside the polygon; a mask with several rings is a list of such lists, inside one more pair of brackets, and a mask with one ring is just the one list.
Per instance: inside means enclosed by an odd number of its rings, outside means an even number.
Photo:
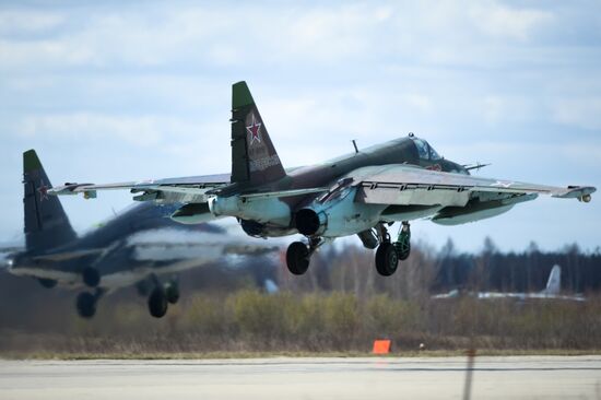
[{"label": "strip of dry grass and bushes between runway and trees", "polygon": [[[601,353],[601,302],[396,299],[387,295],[196,295],[161,319],[134,302],[104,305],[92,320],[0,328],[8,358],[228,358],[365,356],[389,339],[393,356]],[[419,351],[424,343],[425,351]]]}]

